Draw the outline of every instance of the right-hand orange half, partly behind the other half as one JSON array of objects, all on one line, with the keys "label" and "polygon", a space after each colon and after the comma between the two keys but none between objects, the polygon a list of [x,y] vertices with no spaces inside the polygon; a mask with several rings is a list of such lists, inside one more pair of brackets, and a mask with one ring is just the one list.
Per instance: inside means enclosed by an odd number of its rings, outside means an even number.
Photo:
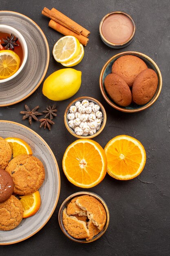
[{"label": "right-hand orange half, partly behind the other half", "polygon": [[119,135],[111,139],[104,148],[110,176],[117,180],[130,180],[144,169],[146,152],[144,146],[135,138]]}]

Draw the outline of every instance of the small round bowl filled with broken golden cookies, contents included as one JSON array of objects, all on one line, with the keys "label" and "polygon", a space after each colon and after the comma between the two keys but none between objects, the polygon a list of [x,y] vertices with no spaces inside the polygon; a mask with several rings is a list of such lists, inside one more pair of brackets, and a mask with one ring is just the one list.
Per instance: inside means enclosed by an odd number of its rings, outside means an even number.
[{"label": "small round bowl filled with broken golden cookies, contents included", "polygon": [[99,195],[82,191],[64,200],[58,220],[68,238],[78,243],[91,243],[106,232],[109,211]]}]

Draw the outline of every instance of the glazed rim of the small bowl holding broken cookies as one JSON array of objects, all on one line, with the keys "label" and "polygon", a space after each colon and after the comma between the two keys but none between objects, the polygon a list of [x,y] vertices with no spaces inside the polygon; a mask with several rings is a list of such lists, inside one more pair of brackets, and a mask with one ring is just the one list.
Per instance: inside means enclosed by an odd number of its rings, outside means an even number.
[{"label": "glazed rim of the small bowl holding broken cookies", "polygon": [[[75,198],[76,196],[80,196],[80,195],[91,195],[93,197],[95,197],[97,200],[99,200],[103,206],[104,209],[106,210],[106,223],[104,225],[104,228],[102,229],[102,231],[99,232],[99,234],[97,234],[94,238],[92,238],[91,240],[82,240],[82,239],[78,239],[78,238],[74,238],[73,236],[69,235],[68,232],[66,231],[66,229],[64,228],[64,225],[62,223],[62,212],[64,210],[64,206],[66,206],[66,204],[73,198]],[[68,196],[64,202],[62,202],[62,205],[60,206],[59,212],[58,212],[58,221],[59,221],[59,225],[61,230],[63,231],[63,233],[70,238],[71,240],[78,242],[78,243],[91,243],[95,240],[97,240],[98,238],[100,238],[105,232],[106,229],[108,228],[108,224],[109,224],[109,220],[110,220],[110,215],[109,215],[109,210],[108,210],[108,206],[106,204],[106,202],[103,200],[103,198],[101,198],[99,195],[97,195],[96,193],[93,192],[88,192],[88,191],[80,191],[80,192],[76,192],[73,193],[72,195]]]}]

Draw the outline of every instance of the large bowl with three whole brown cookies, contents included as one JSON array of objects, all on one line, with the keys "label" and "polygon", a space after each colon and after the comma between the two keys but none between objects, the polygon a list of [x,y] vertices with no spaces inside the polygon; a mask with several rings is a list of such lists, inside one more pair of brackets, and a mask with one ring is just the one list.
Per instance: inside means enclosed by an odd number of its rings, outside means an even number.
[{"label": "large bowl with three whole brown cookies, contents included", "polygon": [[122,112],[149,108],[159,97],[162,76],[157,64],[140,52],[121,52],[110,58],[99,78],[104,99]]}]

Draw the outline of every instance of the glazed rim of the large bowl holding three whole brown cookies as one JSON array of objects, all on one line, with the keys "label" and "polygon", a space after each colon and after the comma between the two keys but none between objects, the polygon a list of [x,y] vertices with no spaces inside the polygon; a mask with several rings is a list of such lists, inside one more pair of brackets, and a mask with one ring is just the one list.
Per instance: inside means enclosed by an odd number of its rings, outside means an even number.
[{"label": "glazed rim of the large bowl holding three whole brown cookies", "polygon": [[[126,108],[121,108],[120,106],[117,106],[113,101],[111,101],[110,99],[108,99],[108,97],[106,96],[106,93],[104,92],[104,85],[102,83],[102,78],[103,78],[103,74],[104,74],[104,71],[106,69],[106,67],[108,66],[108,64],[114,59],[114,58],[117,58],[117,57],[120,57],[120,56],[124,56],[124,55],[128,55],[128,54],[136,54],[135,56],[139,55],[139,58],[140,56],[146,58],[148,61],[150,61],[152,63],[152,65],[154,65],[155,69],[157,70],[158,72],[158,75],[159,75],[159,90],[157,91],[157,94],[154,95],[152,97],[152,99],[146,103],[146,105],[142,106],[142,107],[139,107],[137,109],[126,109]],[[127,113],[135,113],[135,112],[140,112],[146,108],[149,108],[156,100],[157,98],[159,97],[159,94],[161,92],[161,88],[162,88],[162,76],[161,76],[161,71],[159,70],[159,67],[157,66],[157,64],[155,63],[155,61],[153,61],[150,57],[148,57],[146,54],[143,54],[141,52],[132,52],[132,51],[128,51],[128,52],[121,52],[119,54],[116,54],[114,55],[113,57],[111,57],[103,66],[102,68],[102,71],[100,73],[100,78],[99,78],[99,85],[100,85],[100,90],[102,92],[102,95],[104,97],[104,99],[108,102],[108,104],[110,106],[112,106],[113,108],[119,110],[119,111],[122,111],[122,112],[127,112]]]}]

